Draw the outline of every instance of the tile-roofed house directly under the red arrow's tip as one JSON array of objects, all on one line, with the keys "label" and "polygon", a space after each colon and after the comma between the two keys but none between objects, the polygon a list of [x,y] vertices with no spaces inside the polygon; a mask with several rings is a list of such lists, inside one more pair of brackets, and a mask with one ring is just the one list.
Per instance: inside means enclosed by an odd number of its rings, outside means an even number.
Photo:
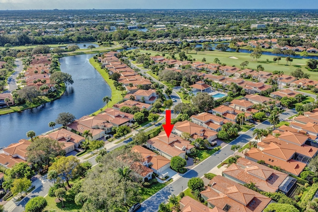
[{"label": "tile-roofed house directly under the red arrow's tip", "polygon": [[190,150],[194,148],[190,141],[181,139],[174,134],[170,134],[169,138],[167,138],[165,132],[161,132],[158,136],[148,140],[146,145],[169,160],[174,156],[185,158],[185,154],[190,153]]}]

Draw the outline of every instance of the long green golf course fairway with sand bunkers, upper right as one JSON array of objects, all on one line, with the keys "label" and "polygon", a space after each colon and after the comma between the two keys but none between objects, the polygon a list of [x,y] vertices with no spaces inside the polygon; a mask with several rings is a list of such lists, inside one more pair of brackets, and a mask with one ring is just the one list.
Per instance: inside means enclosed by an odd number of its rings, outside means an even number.
[{"label": "long green golf course fairway with sand bunkers, upper right", "polygon": [[[156,52],[151,50],[141,50],[142,53],[151,53],[152,56],[156,54],[162,54],[162,52]],[[311,74],[311,79],[318,80],[318,72],[307,71],[305,69],[306,61],[308,59],[293,58],[292,65],[286,65],[285,58],[282,58],[280,63],[274,63],[273,58],[275,56],[262,55],[257,61],[252,61],[249,53],[237,53],[237,52],[220,52],[220,51],[202,51],[195,54],[195,51],[189,51],[189,54],[192,58],[195,58],[196,61],[202,61],[202,58],[206,59],[206,63],[214,63],[214,59],[218,58],[221,63],[224,63],[228,66],[236,66],[241,68],[240,64],[244,61],[248,61],[248,66],[244,68],[255,69],[258,65],[264,67],[264,71],[273,72],[273,71],[284,71],[284,74],[290,75],[292,71],[295,71],[297,68],[302,68],[306,73]],[[175,54],[176,59],[178,59],[178,54]],[[230,57],[236,57],[238,59],[232,59]],[[267,61],[268,59],[268,61]]]}]

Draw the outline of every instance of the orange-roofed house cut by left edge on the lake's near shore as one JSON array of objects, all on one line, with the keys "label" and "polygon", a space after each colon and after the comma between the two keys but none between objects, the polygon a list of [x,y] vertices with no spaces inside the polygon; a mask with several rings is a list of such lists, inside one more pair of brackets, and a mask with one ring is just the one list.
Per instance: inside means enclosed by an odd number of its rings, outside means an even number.
[{"label": "orange-roofed house cut by left edge on the lake's near shore", "polygon": [[26,148],[31,144],[31,141],[25,139],[19,140],[17,143],[11,143],[6,148],[0,150],[0,165],[5,168],[11,168],[16,163],[26,162]]}]

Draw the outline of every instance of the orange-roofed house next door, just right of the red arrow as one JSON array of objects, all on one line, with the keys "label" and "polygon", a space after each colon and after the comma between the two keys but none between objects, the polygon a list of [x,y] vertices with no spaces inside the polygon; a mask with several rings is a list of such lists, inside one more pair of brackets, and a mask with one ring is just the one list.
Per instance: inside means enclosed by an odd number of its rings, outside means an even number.
[{"label": "orange-roofed house next door, just right of the red arrow", "polygon": [[182,133],[189,133],[192,141],[200,138],[208,140],[211,144],[216,144],[216,141],[214,140],[218,138],[218,133],[216,131],[204,128],[189,121],[175,123],[172,133],[177,136],[182,136]]}]

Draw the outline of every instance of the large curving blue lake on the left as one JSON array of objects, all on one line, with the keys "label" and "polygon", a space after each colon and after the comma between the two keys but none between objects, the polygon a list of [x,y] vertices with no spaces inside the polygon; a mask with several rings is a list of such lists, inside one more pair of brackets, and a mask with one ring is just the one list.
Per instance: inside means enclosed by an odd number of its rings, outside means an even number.
[{"label": "large curving blue lake on the left", "polygon": [[[102,108],[102,98],[111,96],[111,89],[101,75],[89,63],[94,54],[77,55],[60,59],[61,71],[72,75],[73,85],[64,95],[37,108],[0,116],[0,147],[26,139],[26,132],[36,135],[52,130],[48,123],[55,121],[59,113],[70,112],[76,118],[89,115]],[[58,127],[58,126],[56,126]]]}]

